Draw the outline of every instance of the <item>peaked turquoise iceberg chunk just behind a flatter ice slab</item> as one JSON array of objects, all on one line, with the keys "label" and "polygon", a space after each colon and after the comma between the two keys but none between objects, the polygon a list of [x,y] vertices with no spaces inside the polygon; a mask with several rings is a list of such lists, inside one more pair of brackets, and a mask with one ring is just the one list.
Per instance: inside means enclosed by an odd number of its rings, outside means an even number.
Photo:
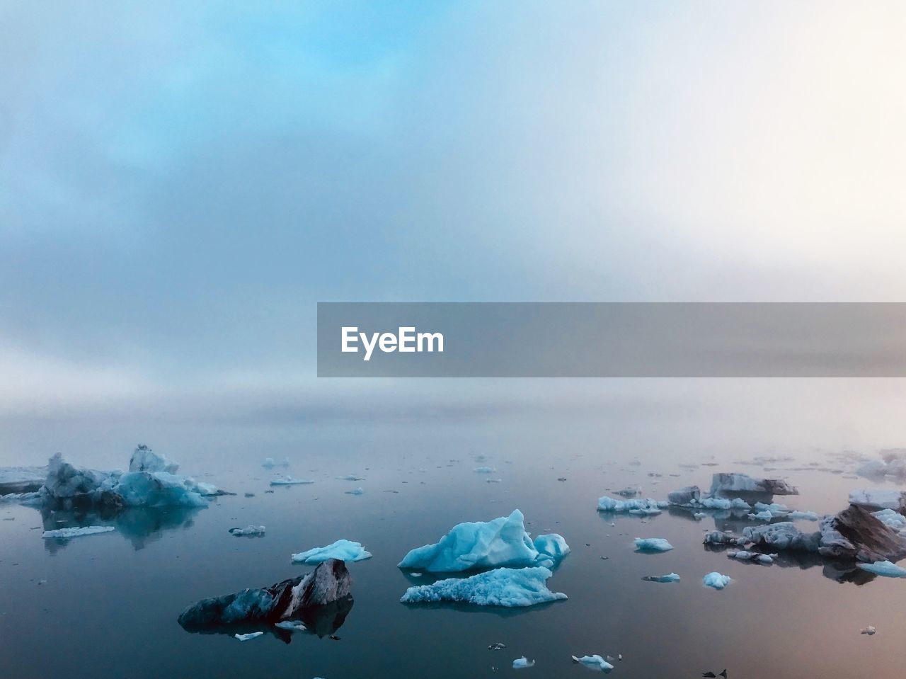
[{"label": "peaked turquoise iceberg chunk just behind a flatter ice slab", "polygon": [[525,517],[515,509],[508,517],[460,523],[439,542],[412,549],[400,568],[452,573],[474,568],[552,567],[569,553],[564,538],[552,533],[532,538]]}]

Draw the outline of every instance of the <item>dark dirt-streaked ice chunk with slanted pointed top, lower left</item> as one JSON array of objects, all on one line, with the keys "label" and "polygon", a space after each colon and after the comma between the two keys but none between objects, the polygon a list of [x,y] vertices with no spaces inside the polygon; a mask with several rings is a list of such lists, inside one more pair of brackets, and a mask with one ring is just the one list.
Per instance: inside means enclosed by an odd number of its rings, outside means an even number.
[{"label": "dark dirt-streaked ice chunk with slanted pointed top, lower left", "polygon": [[312,573],[270,587],[202,599],[180,614],[179,625],[193,627],[286,620],[306,608],[326,606],[350,596],[352,577],[342,561],[323,562]]}]

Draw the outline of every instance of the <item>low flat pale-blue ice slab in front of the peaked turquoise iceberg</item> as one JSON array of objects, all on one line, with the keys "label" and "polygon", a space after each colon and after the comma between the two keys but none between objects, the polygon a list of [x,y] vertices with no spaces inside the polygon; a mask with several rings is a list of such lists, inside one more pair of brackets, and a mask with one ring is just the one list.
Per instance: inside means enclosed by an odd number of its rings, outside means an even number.
[{"label": "low flat pale-blue ice slab in front of the peaked turquoise iceberg", "polygon": [[495,568],[472,577],[450,577],[431,585],[410,587],[400,601],[404,604],[459,601],[476,606],[535,606],[566,598],[562,592],[547,588],[545,582],[551,575],[551,571],[542,566]]}]

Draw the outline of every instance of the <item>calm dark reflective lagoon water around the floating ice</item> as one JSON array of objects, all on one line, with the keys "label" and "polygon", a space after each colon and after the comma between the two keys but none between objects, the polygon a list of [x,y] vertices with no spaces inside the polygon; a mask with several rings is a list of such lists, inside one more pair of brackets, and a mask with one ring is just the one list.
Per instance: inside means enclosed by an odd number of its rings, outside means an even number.
[{"label": "calm dark reflective lagoon water around the floating ice", "polygon": [[[143,442],[180,461],[181,472],[237,494],[207,509],[133,510],[113,519],[42,517],[0,504],[0,667],[9,677],[68,679],[442,679],[510,674],[525,655],[535,665],[518,671],[540,678],[585,676],[589,670],[571,655],[619,654],[612,674],[622,677],[698,677],[724,668],[747,679],[902,675],[906,580],[818,558],[743,563],[702,545],[706,530],[741,532],[747,521],[595,509],[599,497],[626,486],[664,500],[691,483],[707,488],[714,471],[736,470],[798,486],[799,496],[776,498],[791,508],[835,512],[850,490],[879,485],[847,478],[854,464],[843,446],[786,445],[783,437],[768,445],[753,436],[731,449],[726,434],[716,440],[704,424],[672,444],[668,432],[651,432],[651,422],[639,420],[530,417],[334,424],[304,435],[161,434]],[[116,432],[111,439],[123,442],[101,452],[84,444],[64,453],[77,464],[124,467],[128,436]],[[781,460],[750,463],[758,455]],[[266,457],[289,458],[286,472],[315,483],[270,487],[284,470],[262,468]],[[476,473],[479,466],[496,471]],[[338,478],[348,474],[363,480]],[[361,495],[345,492],[360,486]],[[568,600],[526,609],[400,604],[406,587],[432,579],[397,568],[410,548],[437,541],[460,521],[516,508],[533,535],[561,533],[572,548],[548,581]],[[90,524],[116,530],[41,537],[42,529]],[[249,524],[265,525],[265,536],[228,532]],[[374,556],[350,564],[354,604],[341,626],[318,629],[323,637],[265,634],[240,643],[178,626],[179,613],[199,598],[310,570],[290,555],[338,538],[360,541]],[[667,538],[674,549],[641,554],[634,538]],[[722,591],[703,587],[710,571],[734,582]],[[671,572],[679,583],[642,580]],[[877,634],[860,635],[866,626]],[[506,648],[488,649],[498,642]]]}]

